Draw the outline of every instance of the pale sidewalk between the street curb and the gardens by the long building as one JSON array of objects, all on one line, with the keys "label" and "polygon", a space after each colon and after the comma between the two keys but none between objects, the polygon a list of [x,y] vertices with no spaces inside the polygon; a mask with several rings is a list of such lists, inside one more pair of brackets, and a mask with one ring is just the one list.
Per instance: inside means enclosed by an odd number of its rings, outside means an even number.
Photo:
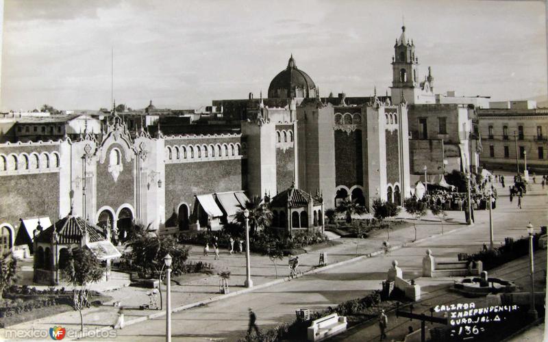
[{"label": "pale sidewalk between the street curb and the gardens by the long building", "polygon": [[[540,185],[538,187],[540,188]],[[501,194],[501,192],[499,192],[499,194]],[[528,192],[527,196],[529,196],[529,194],[530,193]],[[501,195],[504,196],[503,193]],[[500,198],[499,200],[504,201],[503,198]],[[502,206],[499,206],[497,203],[497,209],[499,209],[499,207]],[[497,211],[495,211],[495,213],[497,213]],[[451,235],[452,230],[468,228],[468,226],[462,224],[464,221],[464,212],[449,211],[448,214],[450,220],[445,223],[445,235],[448,235],[447,237]],[[477,211],[476,225],[485,224],[486,218],[488,218],[488,211]],[[417,242],[427,239],[428,237],[438,235],[441,232],[441,226],[438,218],[434,218],[431,213],[425,216],[423,221],[419,221],[416,226]],[[397,228],[394,231],[390,231],[389,242],[395,250],[399,246],[403,246],[403,244],[409,244],[413,238],[414,229],[412,226],[408,226],[406,228]],[[301,259],[299,271],[308,272],[313,270],[318,264],[320,252],[327,253],[327,262],[329,265],[341,261],[353,262],[355,261],[353,259],[355,257],[361,256],[360,259],[363,259],[379,254],[382,252],[382,241],[384,240],[386,240],[386,231],[375,231],[371,233],[371,236],[367,239],[341,238],[336,240],[338,243],[336,246],[317,250],[312,246],[312,248],[308,248],[308,250],[314,250],[313,252],[301,254],[299,257],[299,259]],[[479,246],[481,246],[481,244],[479,244]],[[476,248],[472,245],[467,247]],[[222,250],[221,260],[214,261],[213,255],[208,257],[203,256],[202,248],[200,246],[192,246],[190,260],[212,263],[217,270],[229,269],[232,272],[232,276],[229,279],[229,289],[232,295],[238,291],[248,291],[248,289],[243,287],[243,282],[245,280],[245,254],[234,254],[231,256],[226,250]],[[277,272],[280,278],[287,276],[289,273],[286,260],[287,259],[284,259],[284,261],[279,262],[277,265]],[[283,279],[276,279],[276,269],[268,257],[252,254],[251,265],[251,274],[256,287],[284,281]],[[172,308],[177,309],[182,306],[198,305],[210,300],[226,298],[226,295],[219,294],[219,280],[219,276],[190,274],[188,275],[188,280],[181,285],[172,284]],[[150,315],[153,315],[153,317],[158,317],[165,313],[165,311],[138,310],[138,306],[149,302],[147,291],[150,290],[125,287],[116,291],[110,291],[108,295],[112,296],[112,302],[120,301],[121,304],[127,308],[125,312],[126,321],[128,323],[136,323],[147,319]],[[162,292],[164,292],[164,287],[162,287]],[[109,304],[112,305],[112,302],[105,303],[105,306],[91,308],[85,311],[84,323],[86,324],[86,328],[107,328],[111,324],[114,324],[114,321],[116,321],[118,308],[109,306]],[[49,329],[51,326],[57,324],[62,324],[62,326],[66,328],[78,329],[79,315],[77,312],[71,311],[52,317],[29,321],[24,324],[18,324],[10,328]]]}]

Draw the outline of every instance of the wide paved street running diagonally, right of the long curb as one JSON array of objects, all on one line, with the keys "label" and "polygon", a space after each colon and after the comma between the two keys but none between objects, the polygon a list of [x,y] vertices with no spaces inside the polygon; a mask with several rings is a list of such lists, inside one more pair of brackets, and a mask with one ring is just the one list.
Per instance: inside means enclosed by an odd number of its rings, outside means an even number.
[{"label": "wide paved street running diagonally, right of the long curb", "polygon": [[[540,185],[534,186],[533,190],[527,193],[521,210],[516,209],[515,202],[510,204],[508,196],[500,189],[499,195],[502,196],[493,215],[497,244],[503,241],[504,237],[517,238],[526,235],[525,226],[529,220],[536,227],[546,224],[546,196],[542,193]],[[247,329],[247,307],[249,306],[256,311],[260,326],[271,326],[279,321],[292,321],[297,308],[325,308],[344,300],[357,298],[369,290],[379,289],[393,259],[399,261],[406,278],[415,278],[420,275],[421,259],[427,248],[430,248],[436,257],[454,260],[458,252],[475,252],[482,247],[482,244],[488,244],[488,211],[476,211],[475,219],[476,223],[472,227],[462,228],[451,234],[395,250],[388,256],[364,259],[292,280],[283,285],[175,313],[173,314],[174,340],[203,341],[224,338],[233,341],[242,336]],[[439,224],[434,222],[419,225],[419,231],[422,233],[438,229]],[[540,270],[540,267],[537,269]],[[432,290],[429,287],[447,282],[452,280],[447,278],[417,280],[426,293],[435,290],[435,287]],[[140,341],[154,341],[163,334],[164,324],[164,319],[160,317],[135,326],[128,326],[119,331],[119,339],[130,341],[138,336]]]}]

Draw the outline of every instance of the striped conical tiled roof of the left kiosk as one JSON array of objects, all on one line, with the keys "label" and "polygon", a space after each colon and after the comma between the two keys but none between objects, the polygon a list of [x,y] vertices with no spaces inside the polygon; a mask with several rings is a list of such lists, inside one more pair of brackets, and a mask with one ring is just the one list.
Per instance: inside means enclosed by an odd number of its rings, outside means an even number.
[{"label": "striped conical tiled roof of the left kiosk", "polygon": [[53,226],[49,226],[42,231],[36,237],[38,242],[50,242],[51,235],[53,235],[53,229],[57,231],[60,244],[79,244],[82,241],[82,235],[84,232],[88,232],[89,241],[97,242],[105,240],[103,231],[98,226],[94,226],[79,218],[69,214],[66,218],[62,218],[58,222],[55,222]]}]

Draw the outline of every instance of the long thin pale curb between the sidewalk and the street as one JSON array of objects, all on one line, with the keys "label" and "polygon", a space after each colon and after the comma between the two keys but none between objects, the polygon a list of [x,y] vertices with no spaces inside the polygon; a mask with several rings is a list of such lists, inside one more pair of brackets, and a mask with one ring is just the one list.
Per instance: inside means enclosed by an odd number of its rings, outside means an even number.
[{"label": "long thin pale curb between the sidewalk and the street", "polygon": [[[447,233],[445,233],[444,235],[447,235],[447,234],[451,234],[455,231],[458,231],[459,228],[456,228],[456,229],[453,229],[451,231],[448,231]],[[403,243],[403,244],[398,244],[396,246],[393,246],[392,248],[390,248],[390,251],[392,250],[399,250],[400,248],[404,248],[404,247],[408,247],[412,244],[416,244],[416,243],[419,243],[419,242],[422,242],[422,241],[426,241],[428,239],[432,239],[434,237],[438,237],[442,235],[441,233],[438,233],[438,234],[434,234],[434,235],[430,235],[428,237],[423,237],[422,239],[418,239],[416,241],[412,241],[412,242],[406,242],[406,243]],[[372,257],[376,257],[377,255],[379,254],[384,254],[384,250],[377,250],[376,252],[371,252],[371,253],[367,253],[367,254],[362,254],[360,255],[359,257],[353,257],[351,259],[347,259],[347,260],[344,260],[344,261],[339,261],[338,263],[332,263],[332,264],[329,264],[329,265],[326,265],[326,266],[323,266],[323,267],[314,267],[313,269],[310,269],[306,272],[303,272],[303,273],[300,273],[300,274],[297,274],[297,276],[295,278],[302,278],[303,276],[306,276],[308,274],[316,274],[316,273],[319,273],[319,272],[323,272],[327,269],[332,269],[332,268],[335,268],[335,267],[339,267],[339,266],[343,266],[343,265],[347,265],[349,263],[354,263],[356,261],[360,261],[362,259],[369,259],[369,258],[372,258]],[[182,305],[182,306],[177,306],[175,308],[172,308],[171,309],[171,312],[172,313],[177,313],[179,311],[184,311],[184,310],[188,310],[189,308],[195,308],[197,306],[204,306],[204,305],[207,305],[207,304],[210,304],[210,303],[213,303],[213,302],[217,302],[219,300],[224,300],[224,299],[227,299],[227,298],[232,298],[236,295],[241,295],[241,294],[244,294],[244,293],[249,293],[251,291],[255,291],[257,289],[264,289],[265,287],[271,287],[273,285],[277,285],[277,284],[282,284],[283,282],[288,282],[292,279],[295,279],[295,278],[289,278],[289,277],[285,277],[285,278],[279,278],[279,279],[276,279],[276,280],[271,280],[269,282],[264,282],[263,284],[261,285],[257,285],[257,286],[253,286],[253,287],[250,287],[250,288],[246,288],[246,289],[240,289],[238,291],[234,291],[234,292],[231,292],[231,293],[228,293],[226,295],[217,295],[216,297],[212,297],[212,298],[209,298],[207,300],[201,300],[199,302],[193,302],[193,303],[190,303],[190,304],[185,304],[185,305]],[[149,319],[155,319],[155,318],[158,318],[158,317],[163,317],[166,315],[166,311],[160,311],[160,312],[157,312],[157,313],[151,313],[150,315],[146,315],[146,316],[141,316],[141,317],[138,317],[138,318],[134,318],[134,319],[131,319],[131,320],[128,320],[128,321],[125,321],[125,324],[124,326],[131,326],[133,324],[137,324],[137,323],[140,323],[142,321],[147,321]],[[107,330],[112,330],[113,328],[111,328],[110,326],[106,326],[106,327],[103,327],[103,328],[99,328],[99,329],[96,329],[96,330],[92,330],[92,331],[107,331]],[[84,334],[82,335],[82,337],[79,337],[77,339],[84,339],[87,337],[88,334]],[[70,341],[70,340],[69,340]]]}]

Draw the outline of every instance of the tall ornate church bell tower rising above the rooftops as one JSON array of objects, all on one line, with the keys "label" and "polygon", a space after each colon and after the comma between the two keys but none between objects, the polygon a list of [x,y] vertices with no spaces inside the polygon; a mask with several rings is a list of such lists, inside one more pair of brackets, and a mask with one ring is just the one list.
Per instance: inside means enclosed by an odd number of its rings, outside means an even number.
[{"label": "tall ornate church bell tower rising above the rooftops", "polygon": [[392,87],[390,87],[392,102],[397,105],[402,96],[408,104],[436,103],[432,89],[432,72],[424,81],[419,81],[419,57],[415,55],[413,40],[406,37],[406,27],[401,27],[401,35],[394,45],[392,57]]}]

